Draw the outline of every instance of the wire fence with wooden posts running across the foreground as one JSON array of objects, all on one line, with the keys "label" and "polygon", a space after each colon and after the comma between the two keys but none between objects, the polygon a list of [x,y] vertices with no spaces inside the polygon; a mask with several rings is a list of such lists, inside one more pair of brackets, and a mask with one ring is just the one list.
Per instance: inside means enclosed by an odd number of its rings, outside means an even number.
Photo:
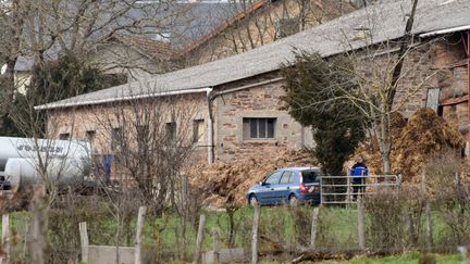
[{"label": "wire fence with wooden posts running across the foreground", "polygon": [[[371,185],[367,188],[367,192],[372,192]],[[429,196],[404,185],[383,188],[358,200],[329,206],[262,206],[255,255],[258,260],[293,261],[312,252],[316,255],[310,255],[310,260],[409,251],[457,253],[458,247],[470,243],[468,186],[458,185]],[[86,197],[51,209],[48,263],[81,260],[81,222],[87,223],[90,244],[133,247],[137,212],[122,211],[116,215],[109,206],[100,198]],[[201,214],[206,222],[200,228]],[[143,263],[193,262],[199,249],[201,261],[208,255],[222,260],[228,249],[238,252],[234,254],[239,259],[234,261],[251,261],[255,219],[253,208],[149,213],[145,218]],[[12,213],[10,225],[10,263],[27,263],[27,244],[33,241],[29,213]],[[199,236],[202,237],[198,239]]]}]

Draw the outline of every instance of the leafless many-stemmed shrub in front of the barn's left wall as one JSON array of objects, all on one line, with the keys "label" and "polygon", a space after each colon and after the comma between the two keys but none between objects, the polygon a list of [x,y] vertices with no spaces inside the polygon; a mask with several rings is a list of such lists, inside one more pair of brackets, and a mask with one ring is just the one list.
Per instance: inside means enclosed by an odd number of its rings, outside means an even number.
[{"label": "leafless many-stemmed shrub in front of the barn's left wall", "polygon": [[161,213],[176,204],[182,173],[197,137],[195,121],[201,118],[197,102],[203,98],[157,93],[138,99],[140,91],[129,92],[129,100],[92,111],[95,150],[112,155],[120,185],[134,187],[154,213]]}]

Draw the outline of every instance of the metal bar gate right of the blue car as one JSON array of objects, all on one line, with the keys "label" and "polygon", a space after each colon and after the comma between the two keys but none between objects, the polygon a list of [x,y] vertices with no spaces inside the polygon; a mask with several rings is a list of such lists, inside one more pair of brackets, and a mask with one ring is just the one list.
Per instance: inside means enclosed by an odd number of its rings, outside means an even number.
[{"label": "metal bar gate right of the blue car", "polygon": [[[360,183],[358,183],[360,181]],[[399,188],[401,175],[322,176],[321,204],[351,204],[358,197],[376,193],[383,188]]]}]

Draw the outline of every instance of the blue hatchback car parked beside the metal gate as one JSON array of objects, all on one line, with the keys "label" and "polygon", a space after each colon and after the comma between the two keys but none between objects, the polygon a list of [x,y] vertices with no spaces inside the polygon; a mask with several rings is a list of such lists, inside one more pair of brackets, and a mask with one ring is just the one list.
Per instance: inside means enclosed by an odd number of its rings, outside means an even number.
[{"label": "blue hatchback car parked beside the metal gate", "polygon": [[319,167],[286,167],[269,174],[249,188],[248,204],[276,205],[320,203]]}]

